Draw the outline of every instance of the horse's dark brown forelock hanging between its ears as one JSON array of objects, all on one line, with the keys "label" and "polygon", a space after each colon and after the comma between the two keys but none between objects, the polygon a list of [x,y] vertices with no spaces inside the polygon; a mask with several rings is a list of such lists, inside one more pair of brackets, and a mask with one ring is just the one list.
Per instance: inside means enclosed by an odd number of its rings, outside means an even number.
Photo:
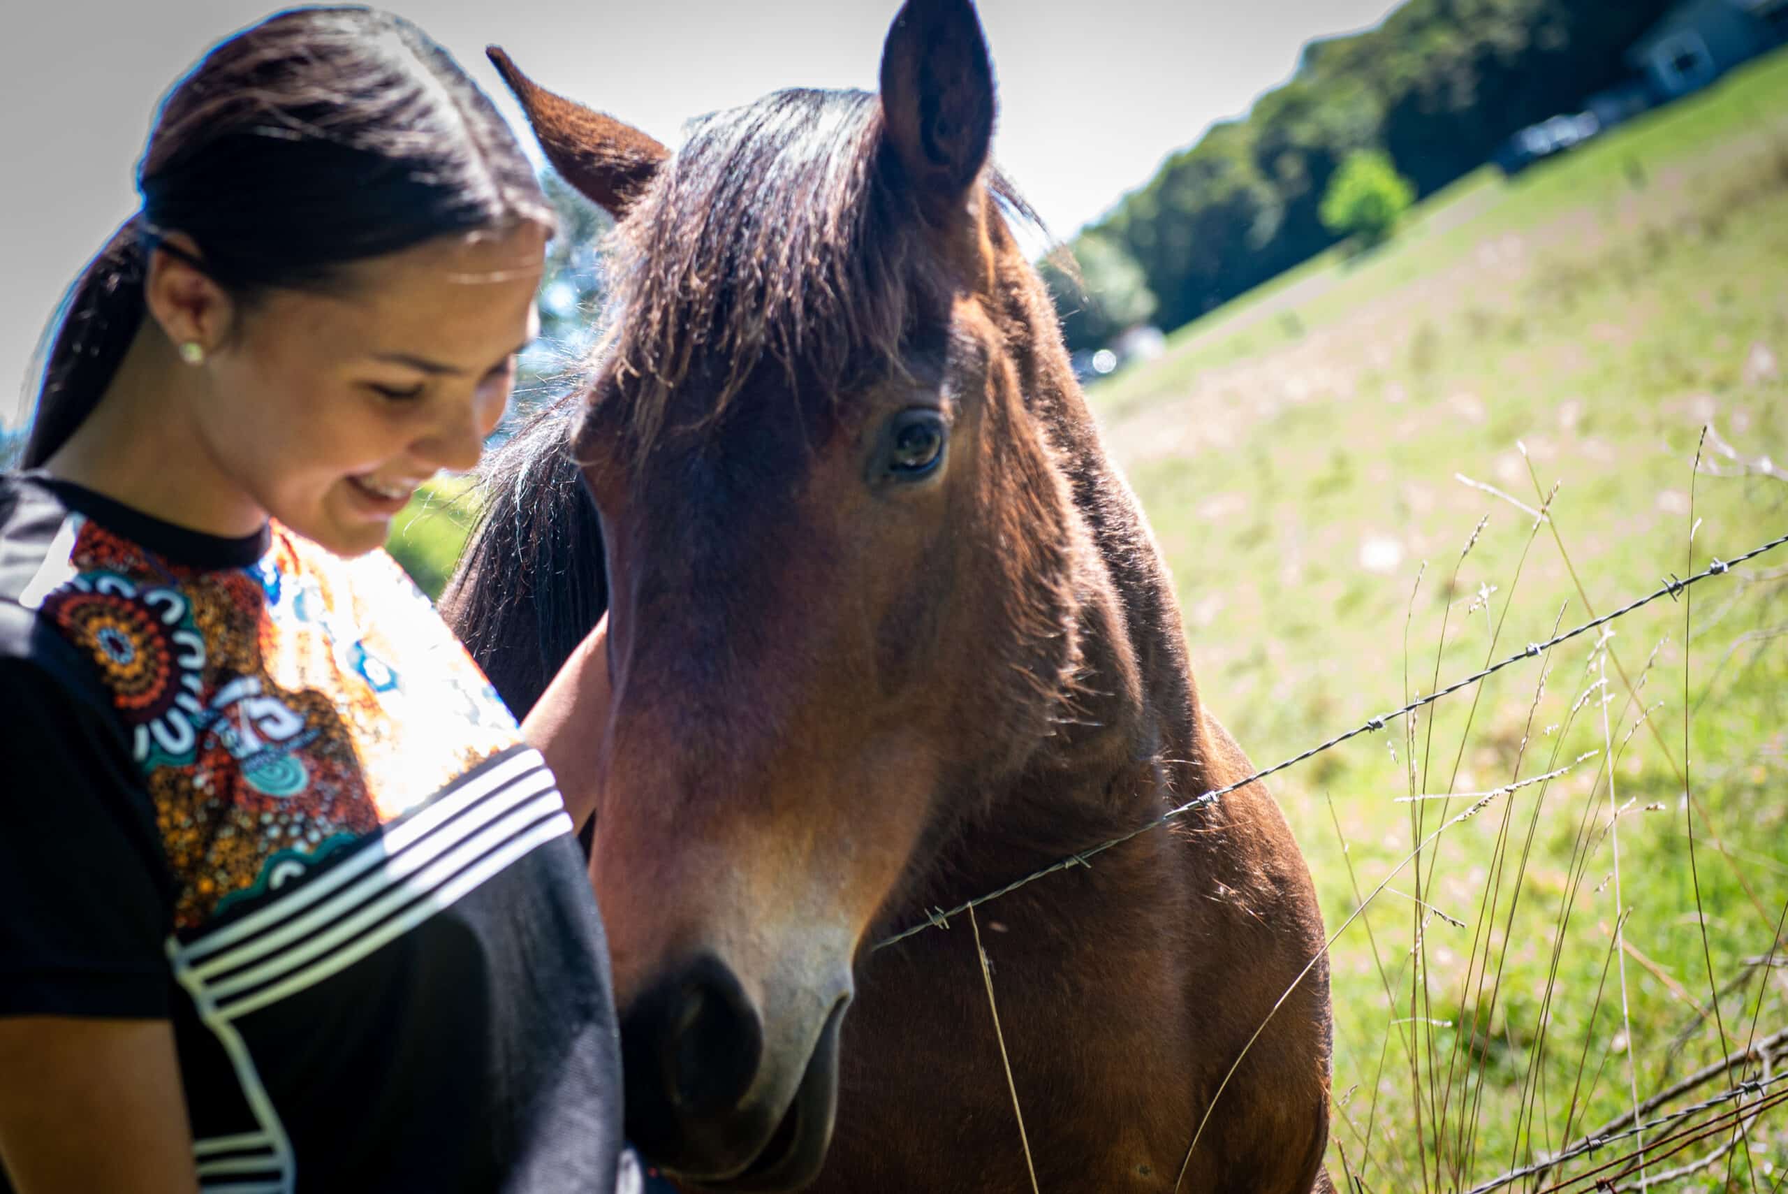
[{"label": "horse's dark brown forelock hanging between its ears", "polygon": [[[867,91],[778,91],[690,123],[611,240],[608,357],[638,450],[674,395],[708,424],[765,365],[801,379],[803,404],[901,372],[903,340],[921,307],[948,307],[948,282],[880,150]],[[1035,222],[1003,177],[989,189],[989,218]],[[678,395],[697,374],[703,393]]]}]

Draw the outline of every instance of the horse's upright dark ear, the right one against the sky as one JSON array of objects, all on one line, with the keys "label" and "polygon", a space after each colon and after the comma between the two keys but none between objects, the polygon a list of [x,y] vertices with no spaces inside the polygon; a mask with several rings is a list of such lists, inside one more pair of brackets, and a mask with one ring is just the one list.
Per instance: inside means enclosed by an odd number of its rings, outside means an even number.
[{"label": "horse's upright dark ear, the right one against the sky", "polygon": [[994,66],[969,0],[907,0],[881,48],[881,118],[926,216],[960,213],[994,134]]}]

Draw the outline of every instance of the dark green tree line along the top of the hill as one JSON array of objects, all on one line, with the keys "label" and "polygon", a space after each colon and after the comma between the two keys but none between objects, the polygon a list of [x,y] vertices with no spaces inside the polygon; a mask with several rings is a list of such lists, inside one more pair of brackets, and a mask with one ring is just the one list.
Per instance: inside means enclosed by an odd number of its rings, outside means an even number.
[{"label": "dark green tree line along the top of the hill", "polygon": [[[1429,195],[1514,130],[1625,79],[1627,46],[1672,4],[1409,0],[1379,29],[1305,46],[1291,82],[1169,157],[1082,236],[1128,252],[1155,320],[1178,327],[1336,243],[1321,198],[1355,150],[1387,152]],[[1087,309],[1071,282],[1053,281],[1064,313]],[[1071,347],[1109,324],[1076,316]]]}]

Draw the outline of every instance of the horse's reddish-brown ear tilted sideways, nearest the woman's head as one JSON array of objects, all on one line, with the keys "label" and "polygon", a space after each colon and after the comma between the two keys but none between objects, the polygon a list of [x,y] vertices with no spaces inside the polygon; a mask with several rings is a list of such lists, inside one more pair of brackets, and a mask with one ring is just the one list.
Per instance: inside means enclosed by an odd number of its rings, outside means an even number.
[{"label": "horse's reddish-brown ear tilted sideways, nearest the woman's head", "polygon": [[608,214],[628,214],[670,150],[633,125],[552,95],[517,70],[501,46],[486,46],[485,54],[522,102],[552,168]]}]

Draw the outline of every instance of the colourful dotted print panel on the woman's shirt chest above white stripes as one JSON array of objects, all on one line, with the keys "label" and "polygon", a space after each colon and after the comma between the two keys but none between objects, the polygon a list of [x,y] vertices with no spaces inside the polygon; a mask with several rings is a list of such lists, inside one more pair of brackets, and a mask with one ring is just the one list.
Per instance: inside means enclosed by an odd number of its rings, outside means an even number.
[{"label": "colourful dotted print panel on the woman's shirt chest above white stripes", "polygon": [[66,563],[46,561],[66,572],[39,610],[93,660],[127,729],[182,937],[520,740],[384,552],[342,559],[274,524],[257,563],[200,570],[70,518]]}]

